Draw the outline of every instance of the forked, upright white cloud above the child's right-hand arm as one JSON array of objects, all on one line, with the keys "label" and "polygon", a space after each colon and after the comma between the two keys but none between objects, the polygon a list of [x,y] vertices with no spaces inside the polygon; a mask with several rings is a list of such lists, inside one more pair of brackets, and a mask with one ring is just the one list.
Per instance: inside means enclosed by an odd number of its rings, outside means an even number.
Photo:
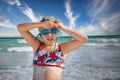
[{"label": "forked, upright white cloud above the child's right-hand arm", "polygon": [[65,16],[69,20],[69,27],[73,28],[76,25],[75,21],[79,17],[79,15],[73,16],[73,11],[71,10],[70,7],[70,1],[67,1],[65,3],[65,8],[66,8]]}]

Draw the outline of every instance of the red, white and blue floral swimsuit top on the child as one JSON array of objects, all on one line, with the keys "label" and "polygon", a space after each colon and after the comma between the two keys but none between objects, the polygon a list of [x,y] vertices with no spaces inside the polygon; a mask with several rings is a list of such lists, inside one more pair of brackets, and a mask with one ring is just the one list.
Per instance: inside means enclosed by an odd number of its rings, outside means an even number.
[{"label": "red, white and blue floral swimsuit top on the child", "polygon": [[63,62],[64,59],[60,50],[60,45],[58,50],[51,52],[42,51],[39,47],[33,58],[33,64],[37,66],[56,66],[63,68]]}]

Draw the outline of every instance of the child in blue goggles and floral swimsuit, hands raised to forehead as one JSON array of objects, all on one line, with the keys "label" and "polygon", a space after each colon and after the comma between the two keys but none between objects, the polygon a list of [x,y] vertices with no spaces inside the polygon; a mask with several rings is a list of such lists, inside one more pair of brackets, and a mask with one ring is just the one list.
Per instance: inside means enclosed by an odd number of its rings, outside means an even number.
[{"label": "child in blue goggles and floral swimsuit, hands raised to forehead", "polygon": [[[65,55],[82,46],[88,39],[86,35],[64,27],[61,21],[54,18],[44,17],[40,22],[23,23],[17,28],[33,48],[33,80],[62,80]],[[39,29],[38,36],[42,41],[30,32],[35,28]],[[56,44],[60,30],[72,36],[74,40]]]}]

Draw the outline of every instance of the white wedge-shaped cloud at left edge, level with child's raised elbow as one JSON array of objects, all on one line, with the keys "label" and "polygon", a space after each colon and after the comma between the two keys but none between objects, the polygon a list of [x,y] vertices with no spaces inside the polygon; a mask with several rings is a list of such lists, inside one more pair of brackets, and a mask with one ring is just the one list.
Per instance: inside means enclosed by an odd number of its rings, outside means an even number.
[{"label": "white wedge-shaped cloud at left edge, level with child's raised elbow", "polygon": [[16,28],[14,24],[10,22],[10,20],[0,17],[0,26],[8,27],[8,28]]}]

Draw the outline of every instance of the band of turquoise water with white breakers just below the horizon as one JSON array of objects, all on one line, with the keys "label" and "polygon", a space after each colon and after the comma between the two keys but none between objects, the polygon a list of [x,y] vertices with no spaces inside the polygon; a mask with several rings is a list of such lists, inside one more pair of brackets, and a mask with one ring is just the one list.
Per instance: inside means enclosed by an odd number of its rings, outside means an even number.
[{"label": "band of turquoise water with white breakers just below the horizon", "polygon": [[[60,37],[57,42],[65,42],[72,40],[72,37],[63,36]],[[89,40],[85,46],[113,46],[113,47],[120,47],[120,36],[89,36]],[[10,51],[24,51],[23,49],[28,48],[31,50],[30,46],[27,42],[22,38],[0,38],[0,52],[10,52]],[[27,50],[26,50],[27,51]]]}]

